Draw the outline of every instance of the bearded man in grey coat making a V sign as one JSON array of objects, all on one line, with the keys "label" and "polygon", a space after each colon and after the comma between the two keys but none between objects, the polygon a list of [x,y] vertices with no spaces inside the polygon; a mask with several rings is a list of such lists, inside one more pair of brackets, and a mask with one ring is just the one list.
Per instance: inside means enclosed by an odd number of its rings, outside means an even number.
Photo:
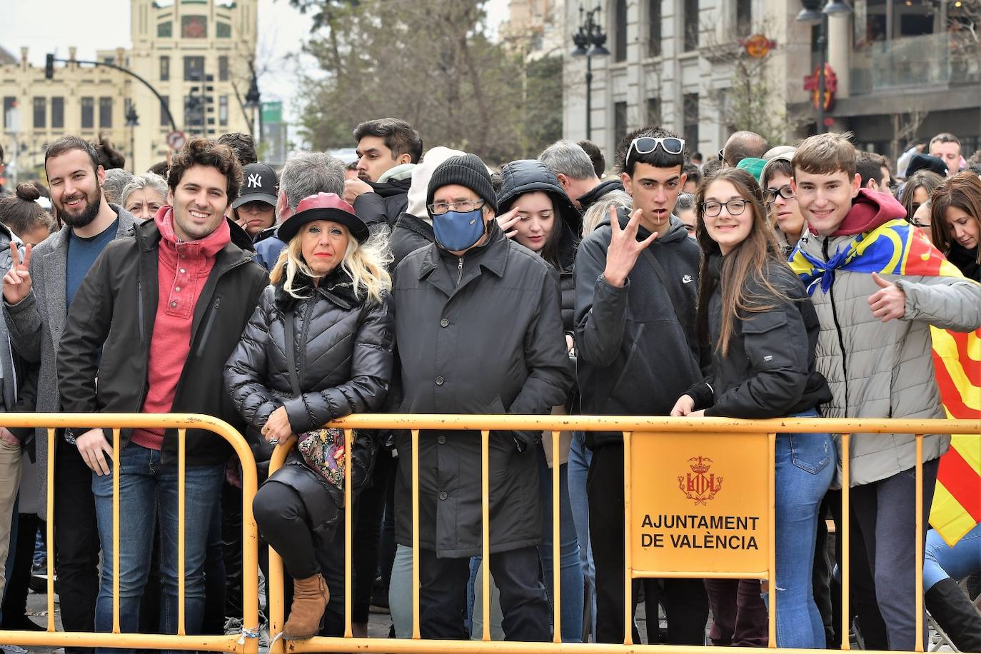
[{"label": "bearded man in grey coat making a V sign", "polygon": [[[65,226],[33,252],[28,246],[23,261],[15,259],[13,270],[3,278],[3,311],[18,354],[40,364],[36,410],[57,412],[61,405],[55,364],[65,316],[82,278],[106,245],[131,234],[133,217],[106,201],[105,171],[95,149],[83,138],[67,135],[52,143],[44,154],[44,171],[51,202]],[[92,475],[77,448],[60,435],[55,446],[54,521],[62,623],[68,631],[91,631],[99,563]],[[41,520],[48,520],[47,429],[36,429],[34,437],[38,513]],[[65,649],[67,654],[90,651]]]}]

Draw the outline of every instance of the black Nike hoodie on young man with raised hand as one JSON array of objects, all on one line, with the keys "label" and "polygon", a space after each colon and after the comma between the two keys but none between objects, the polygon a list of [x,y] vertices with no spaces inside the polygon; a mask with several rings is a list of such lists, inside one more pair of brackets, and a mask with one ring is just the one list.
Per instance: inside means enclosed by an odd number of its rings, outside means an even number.
[{"label": "black Nike hoodie on young man with raised hand", "polygon": [[[619,210],[621,226],[627,211]],[[700,253],[675,216],[666,234],[647,251],[684,298],[675,312],[671,295],[642,254],[622,287],[610,285],[603,271],[610,244],[609,221],[579,244],[576,254],[577,379],[584,415],[667,416],[675,401],[702,380],[709,352],[695,336]],[[637,238],[650,235],[643,226]],[[681,315],[679,320],[678,315]],[[620,432],[587,432],[591,448],[623,441]]]}]

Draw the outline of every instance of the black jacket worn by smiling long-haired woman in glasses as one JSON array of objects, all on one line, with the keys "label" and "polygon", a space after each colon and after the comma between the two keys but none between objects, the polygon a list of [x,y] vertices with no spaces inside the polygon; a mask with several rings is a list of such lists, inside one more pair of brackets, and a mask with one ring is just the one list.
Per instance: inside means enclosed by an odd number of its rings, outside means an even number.
[{"label": "black jacket worn by smiling long-haired woman in glasses", "polygon": [[[723,258],[713,255],[708,274],[721,276]],[[733,321],[729,350],[723,357],[715,344],[722,330],[722,284],[708,300],[708,335],[712,373],[689,394],[706,416],[783,418],[831,401],[828,382],[815,368],[814,348],[821,325],[803,282],[786,265],[771,263],[767,278],[788,299],[764,285],[747,281],[751,297],[775,305],[747,312]]]}]

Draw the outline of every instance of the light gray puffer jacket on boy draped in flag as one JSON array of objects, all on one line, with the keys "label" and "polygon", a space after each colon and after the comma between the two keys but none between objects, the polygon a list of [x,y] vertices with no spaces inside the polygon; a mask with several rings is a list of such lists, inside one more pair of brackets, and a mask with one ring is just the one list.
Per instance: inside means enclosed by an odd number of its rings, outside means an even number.
[{"label": "light gray puffer jacket on boy draped in flag", "polygon": [[[853,235],[818,236],[807,231],[800,247],[827,261]],[[934,374],[930,326],[972,331],[981,326],[981,284],[957,277],[882,276],[906,296],[905,315],[882,323],[868,298],[880,289],[868,273],[838,271],[827,293],[811,301],[821,322],[817,370],[833,395],[826,418],[945,418]],[[949,435],[923,440],[923,460],[939,458]],[[859,433],[852,438],[851,485],[892,477],[916,465],[911,433]],[[839,478],[841,457],[839,457]]]}]

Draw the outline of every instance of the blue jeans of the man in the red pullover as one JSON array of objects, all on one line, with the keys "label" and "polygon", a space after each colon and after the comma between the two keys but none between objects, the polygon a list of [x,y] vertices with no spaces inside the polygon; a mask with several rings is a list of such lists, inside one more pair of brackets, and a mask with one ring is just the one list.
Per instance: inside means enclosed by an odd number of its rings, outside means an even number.
[{"label": "blue jeans of the man in the red pullover", "polygon": [[[112,471],[112,462],[109,462]],[[102,543],[102,576],[95,630],[113,628],[113,473],[92,475]],[[204,561],[208,532],[221,501],[225,466],[187,466],[184,485],[184,618],[189,634],[201,632]],[[134,443],[120,452],[120,629],[139,630],[139,603],[150,571],[154,521],[160,520],[160,627],[178,631],[178,468],[164,465],[157,450]],[[123,651],[123,650],[114,650]]]}]

